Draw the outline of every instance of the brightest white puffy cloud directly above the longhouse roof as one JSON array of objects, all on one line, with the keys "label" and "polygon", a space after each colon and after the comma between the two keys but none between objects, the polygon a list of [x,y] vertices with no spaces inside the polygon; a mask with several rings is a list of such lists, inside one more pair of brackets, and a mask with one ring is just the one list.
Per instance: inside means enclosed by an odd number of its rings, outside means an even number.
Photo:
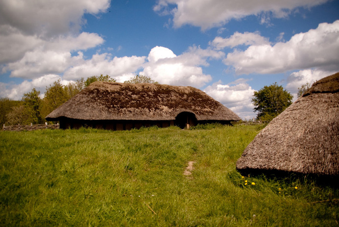
[{"label": "brightest white puffy cloud directly above the longhouse roof", "polygon": [[208,58],[221,58],[224,53],[200,47],[191,47],[182,55],[176,56],[165,47],[154,47],[143,65],[140,74],[149,76],[161,84],[202,86],[212,80],[202,72],[201,65],[207,66]]}]

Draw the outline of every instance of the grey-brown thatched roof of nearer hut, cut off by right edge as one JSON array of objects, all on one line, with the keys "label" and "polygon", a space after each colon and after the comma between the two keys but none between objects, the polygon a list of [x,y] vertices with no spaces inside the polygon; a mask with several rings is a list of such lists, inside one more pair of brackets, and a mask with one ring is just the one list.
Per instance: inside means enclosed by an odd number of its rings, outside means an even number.
[{"label": "grey-brown thatched roof of nearer hut, cut off by right edge", "polygon": [[339,73],[321,79],[254,138],[238,170],[339,175]]}]

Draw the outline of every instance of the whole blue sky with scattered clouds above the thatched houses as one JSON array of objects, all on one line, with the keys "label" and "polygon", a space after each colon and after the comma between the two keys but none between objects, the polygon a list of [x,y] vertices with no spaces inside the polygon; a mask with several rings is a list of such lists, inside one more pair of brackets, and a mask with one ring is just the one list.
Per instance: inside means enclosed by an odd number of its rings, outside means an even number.
[{"label": "whole blue sky with scattered clouds above the thatched houses", "polygon": [[0,97],[108,74],[204,90],[242,118],[253,92],[339,71],[338,0],[1,0]]}]

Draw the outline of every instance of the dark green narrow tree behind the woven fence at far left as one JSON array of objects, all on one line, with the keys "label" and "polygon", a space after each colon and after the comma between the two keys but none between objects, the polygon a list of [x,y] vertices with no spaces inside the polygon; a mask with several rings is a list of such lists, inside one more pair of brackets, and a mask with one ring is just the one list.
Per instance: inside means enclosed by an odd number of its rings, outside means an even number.
[{"label": "dark green narrow tree behind the woven fence at far left", "polygon": [[23,119],[24,123],[41,124],[44,122],[40,114],[42,100],[39,97],[40,91],[33,88],[30,92],[25,93],[22,101],[24,102],[25,111],[28,113],[28,119]]}]

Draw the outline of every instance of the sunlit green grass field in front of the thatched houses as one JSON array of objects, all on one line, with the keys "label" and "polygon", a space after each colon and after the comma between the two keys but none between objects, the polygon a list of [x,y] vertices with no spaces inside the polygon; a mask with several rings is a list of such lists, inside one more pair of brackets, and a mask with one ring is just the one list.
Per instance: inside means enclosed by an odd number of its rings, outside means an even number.
[{"label": "sunlit green grass field in front of the thatched houses", "polygon": [[0,225],[337,226],[337,188],[236,171],[262,127],[0,132]]}]

